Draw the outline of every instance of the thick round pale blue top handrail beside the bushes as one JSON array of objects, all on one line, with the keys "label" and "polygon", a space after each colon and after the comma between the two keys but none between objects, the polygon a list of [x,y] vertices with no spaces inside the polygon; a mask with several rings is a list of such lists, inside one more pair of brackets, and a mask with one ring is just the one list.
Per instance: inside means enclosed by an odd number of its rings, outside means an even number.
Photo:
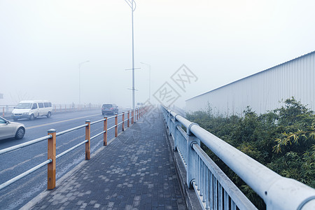
[{"label": "thick round pale blue top handrail beside the bushes", "polygon": [[[162,106],[183,126],[225,162],[265,201],[269,209],[302,209],[311,202],[315,207],[315,189],[294,179],[288,179],[260,164],[222,139]],[[312,207],[313,207],[312,206]]]}]

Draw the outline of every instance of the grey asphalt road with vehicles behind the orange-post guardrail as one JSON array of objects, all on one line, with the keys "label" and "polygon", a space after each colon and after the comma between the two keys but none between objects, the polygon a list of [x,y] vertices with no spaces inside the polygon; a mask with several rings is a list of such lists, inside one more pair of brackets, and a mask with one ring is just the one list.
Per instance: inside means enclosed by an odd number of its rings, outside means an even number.
[{"label": "grey asphalt road with vehicles behind the orange-post guardrail", "polygon": [[[47,131],[55,129],[57,132],[68,130],[72,127],[85,124],[85,120],[91,122],[103,118],[100,110],[79,111],[73,113],[60,113],[51,116],[51,118],[36,118],[35,120],[18,120],[26,127],[25,137],[20,140],[4,139],[0,141],[0,149],[22,144],[33,139],[47,135]],[[118,117],[118,123],[121,122],[121,116]],[[131,123],[131,122],[130,122]],[[108,128],[114,125],[114,119],[108,122]],[[127,123],[125,124],[127,127]],[[91,137],[103,131],[103,123],[91,125]],[[121,125],[118,132],[121,131]],[[114,137],[114,129],[108,133],[108,141]],[[81,128],[63,134],[57,137],[56,153],[62,153],[67,149],[79,144],[85,140],[85,129]],[[91,154],[103,146],[103,135],[91,140]],[[0,155],[0,184],[4,183],[19,174],[35,167],[47,160],[47,141],[41,141],[37,144],[20,148]],[[85,160],[84,144],[74,151],[62,156],[56,161],[56,179],[60,179],[64,174],[69,172],[78,163]],[[19,209],[29,200],[33,199],[47,188],[47,167],[38,169],[36,172],[29,174],[23,179],[11,184],[0,190],[0,209]]]}]

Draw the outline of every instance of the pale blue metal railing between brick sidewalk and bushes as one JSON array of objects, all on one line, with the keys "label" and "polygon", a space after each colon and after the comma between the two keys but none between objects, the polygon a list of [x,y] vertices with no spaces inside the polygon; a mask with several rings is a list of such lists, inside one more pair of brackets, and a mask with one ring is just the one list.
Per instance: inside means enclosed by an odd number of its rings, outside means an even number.
[{"label": "pale blue metal railing between brick sidewalk and bushes", "polygon": [[[209,156],[200,142],[225,162],[262,200],[267,209],[315,209],[315,189],[288,179],[237,150],[207,130],[162,106],[174,149],[187,172],[187,185],[195,189],[203,209],[255,209]],[[186,132],[181,128],[186,127]]]}]

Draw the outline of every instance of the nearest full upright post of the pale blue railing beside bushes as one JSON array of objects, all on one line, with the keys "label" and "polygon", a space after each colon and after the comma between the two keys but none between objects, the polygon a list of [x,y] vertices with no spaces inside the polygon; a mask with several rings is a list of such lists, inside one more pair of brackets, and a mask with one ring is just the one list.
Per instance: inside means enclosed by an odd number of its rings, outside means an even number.
[{"label": "nearest full upright post of the pale blue railing beside bushes", "polygon": [[191,123],[189,127],[187,128],[187,134],[188,134],[188,141],[187,141],[187,186],[189,188],[193,188],[193,181],[195,181],[195,178],[197,176],[195,167],[196,165],[196,160],[197,160],[197,155],[196,152],[193,148],[194,144],[198,144],[200,146],[200,139],[195,137],[195,135],[190,132],[190,128],[193,125],[197,125],[196,123]]}]

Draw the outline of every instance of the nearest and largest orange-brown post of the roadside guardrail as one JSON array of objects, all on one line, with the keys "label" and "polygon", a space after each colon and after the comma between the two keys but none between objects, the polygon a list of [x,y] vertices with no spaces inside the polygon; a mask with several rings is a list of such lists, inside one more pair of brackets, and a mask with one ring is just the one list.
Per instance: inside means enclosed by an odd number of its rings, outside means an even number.
[{"label": "nearest and largest orange-brown post of the roadside guardrail", "polygon": [[56,187],[56,130],[48,130],[48,135],[51,135],[48,139],[48,160],[52,162],[47,165],[47,189],[52,190]]}]

